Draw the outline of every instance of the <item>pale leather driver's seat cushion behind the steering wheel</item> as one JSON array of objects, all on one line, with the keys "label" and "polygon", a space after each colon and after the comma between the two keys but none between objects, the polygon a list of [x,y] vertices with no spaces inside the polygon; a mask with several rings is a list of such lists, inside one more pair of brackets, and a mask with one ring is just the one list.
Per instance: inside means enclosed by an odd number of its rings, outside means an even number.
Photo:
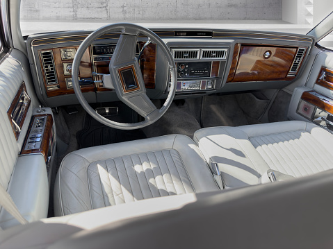
[{"label": "pale leather driver's seat cushion behind the steering wheel", "polygon": [[189,137],[128,141],[68,154],[56,179],[55,214],[217,189],[208,165]]}]

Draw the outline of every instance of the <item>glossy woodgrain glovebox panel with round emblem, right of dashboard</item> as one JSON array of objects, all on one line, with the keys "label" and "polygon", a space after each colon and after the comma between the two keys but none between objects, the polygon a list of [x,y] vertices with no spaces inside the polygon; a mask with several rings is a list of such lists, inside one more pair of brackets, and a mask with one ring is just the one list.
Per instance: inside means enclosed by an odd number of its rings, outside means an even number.
[{"label": "glossy woodgrain glovebox panel with round emblem, right of dashboard", "polygon": [[[241,44],[234,78],[231,69],[228,82],[292,80],[295,77],[288,77],[288,74],[297,49],[292,46]],[[263,57],[266,51],[271,52],[268,58]]]}]

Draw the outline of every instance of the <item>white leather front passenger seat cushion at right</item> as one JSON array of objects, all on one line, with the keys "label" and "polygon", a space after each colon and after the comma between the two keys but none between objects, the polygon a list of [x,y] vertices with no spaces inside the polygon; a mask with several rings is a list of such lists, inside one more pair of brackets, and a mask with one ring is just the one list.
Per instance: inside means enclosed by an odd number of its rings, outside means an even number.
[{"label": "white leather front passenger seat cushion at right", "polygon": [[333,168],[333,135],[304,121],[204,128],[194,140],[225,187],[258,184],[269,169],[301,177]]}]

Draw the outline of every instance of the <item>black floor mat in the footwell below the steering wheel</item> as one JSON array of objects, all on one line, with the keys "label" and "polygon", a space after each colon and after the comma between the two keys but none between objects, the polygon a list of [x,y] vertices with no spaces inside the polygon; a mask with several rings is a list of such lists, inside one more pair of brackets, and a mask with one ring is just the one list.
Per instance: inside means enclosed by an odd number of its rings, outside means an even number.
[{"label": "black floor mat in the footwell below the steering wheel", "polygon": [[[106,116],[106,118],[108,118]],[[146,138],[142,130],[117,130],[99,123],[86,114],[82,130],[76,133],[79,148],[99,146]]]}]

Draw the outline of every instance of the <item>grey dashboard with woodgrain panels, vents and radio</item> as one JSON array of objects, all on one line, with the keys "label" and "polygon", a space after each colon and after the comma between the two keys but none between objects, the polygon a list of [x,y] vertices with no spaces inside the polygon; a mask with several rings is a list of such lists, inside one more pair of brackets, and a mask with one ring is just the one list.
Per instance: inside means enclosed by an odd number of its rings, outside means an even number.
[{"label": "grey dashboard with woodgrain panels, vents and radio", "polygon": [[[176,98],[218,92],[282,88],[300,75],[313,38],[307,35],[250,31],[152,30],[170,48],[177,66]],[[48,107],[78,103],[72,86],[72,62],[90,33],[60,32],[27,38],[33,81],[40,101]],[[119,33],[97,38],[79,67],[81,91],[89,103],[117,101],[97,74],[109,74],[108,64]],[[136,55],[149,98],[166,98],[168,65],[156,44],[138,37]],[[139,58],[140,56],[140,58]]]}]

